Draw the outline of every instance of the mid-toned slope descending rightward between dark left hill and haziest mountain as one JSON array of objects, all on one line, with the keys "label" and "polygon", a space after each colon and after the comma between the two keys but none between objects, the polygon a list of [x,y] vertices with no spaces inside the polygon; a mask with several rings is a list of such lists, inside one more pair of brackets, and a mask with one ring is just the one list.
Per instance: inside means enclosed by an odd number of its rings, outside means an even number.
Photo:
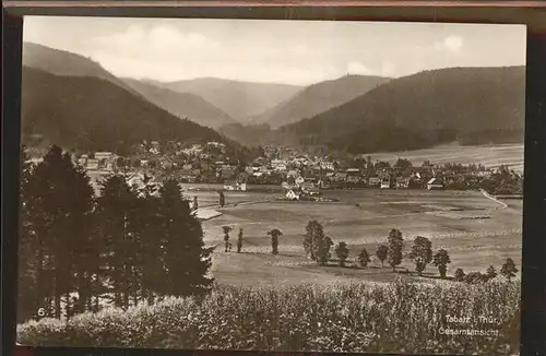
[{"label": "mid-toned slope descending rightward between dark left hill and haziest mountain", "polygon": [[213,129],[237,122],[227,114],[194,94],[177,93],[134,79],[123,79],[123,82],[142,94],[151,103],[181,119],[187,118]]}]

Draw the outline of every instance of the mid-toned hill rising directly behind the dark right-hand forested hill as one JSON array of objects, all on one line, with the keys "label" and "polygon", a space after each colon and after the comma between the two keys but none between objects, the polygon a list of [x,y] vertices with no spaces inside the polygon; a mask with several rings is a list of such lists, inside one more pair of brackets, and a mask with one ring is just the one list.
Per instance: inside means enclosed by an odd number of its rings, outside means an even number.
[{"label": "mid-toned hill rising directly behind the dark right-hand forested hill", "polygon": [[366,94],[388,80],[382,76],[346,75],[320,82],[306,87],[286,103],[258,116],[256,122],[266,122],[271,128],[276,129],[283,124],[312,118]]}]

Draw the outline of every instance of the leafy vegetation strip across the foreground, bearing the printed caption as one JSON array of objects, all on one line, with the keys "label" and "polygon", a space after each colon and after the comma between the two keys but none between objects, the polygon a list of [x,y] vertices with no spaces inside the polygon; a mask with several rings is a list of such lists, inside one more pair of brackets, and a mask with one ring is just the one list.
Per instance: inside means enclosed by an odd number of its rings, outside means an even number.
[{"label": "leafy vegetation strip across the foreground, bearing the printed caption", "polygon": [[[513,354],[520,284],[336,283],[284,287],[216,286],[202,297],[169,298],[127,311],[105,309],[19,325],[22,344],[204,349]],[[446,316],[467,329],[500,321],[498,336],[442,335]]]}]

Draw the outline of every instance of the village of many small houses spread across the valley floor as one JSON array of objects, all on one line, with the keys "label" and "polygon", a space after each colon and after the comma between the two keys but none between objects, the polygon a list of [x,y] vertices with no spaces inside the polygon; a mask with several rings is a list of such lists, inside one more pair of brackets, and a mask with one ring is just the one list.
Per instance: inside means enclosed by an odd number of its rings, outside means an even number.
[{"label": "village of many small houses spread across the valley floor", "polygon": [[[328,189],[479,190],[495,173],[483,165],[435,165],[429,161],[417,165],[402,157],[390,164],[373,161],[371,155],[317,156],[286,146],[264,146],[261,153],[253,161],[242,163],[226,153],[225,144],[219,142],[183,147],[180,143],[162,146],[152,141],[143,142],[127,157],[95,152],[73,154],[72,158],[85,169],[97,194],[102,179],[112,174],[123,174],[128,183],[136,187],[174,177],[181,183],[214,186],[215,190],[225,191],[281,187],[284,199],[320,200],[320,191]],[[520,180],[521,176],[510,174]]]}]

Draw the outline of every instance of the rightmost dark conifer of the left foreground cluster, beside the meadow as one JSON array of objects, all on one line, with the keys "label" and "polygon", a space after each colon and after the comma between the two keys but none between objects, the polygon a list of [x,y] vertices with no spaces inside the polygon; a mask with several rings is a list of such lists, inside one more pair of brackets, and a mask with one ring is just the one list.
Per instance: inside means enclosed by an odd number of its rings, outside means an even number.
[{"label": "rightmost dark conifer of the left foreground cluster, beside the meadow", "polygon": [[159,215],[165,236],[165,270],[167,295],[199,295],[210,290],[213,278],[212,248],[205,248],[201,223],[191,214],[189,202],[180,193],[176,180],[169,179],[159,189]]}]

